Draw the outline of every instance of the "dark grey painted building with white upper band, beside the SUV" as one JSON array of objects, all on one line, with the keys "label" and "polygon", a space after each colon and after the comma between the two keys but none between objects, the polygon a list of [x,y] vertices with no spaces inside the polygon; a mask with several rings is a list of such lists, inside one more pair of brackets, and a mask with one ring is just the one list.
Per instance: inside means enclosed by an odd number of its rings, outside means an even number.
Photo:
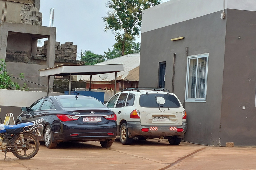
[{"label": "dark grey painted building with white upper band, beside the SUV", "polygon": [[143,11],[141,32],[139,87],[179,97],[185,141],[256,145],[255,0],[170,0]]}]

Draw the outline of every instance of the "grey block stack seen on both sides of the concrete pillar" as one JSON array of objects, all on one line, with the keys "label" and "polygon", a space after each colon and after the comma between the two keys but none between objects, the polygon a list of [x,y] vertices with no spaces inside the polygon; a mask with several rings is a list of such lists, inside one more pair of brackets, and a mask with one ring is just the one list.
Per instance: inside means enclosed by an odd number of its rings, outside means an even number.
[{"label": "grey block stack seen on both sides of the concrete pillar", "polygon": [[[47,55],[48,41],[44,41],[42,47],[37,47],[37,55]],[[73,42],[66,42],[61,44],[55,43],[55,58],[76,60],[77,45],[73,45]]]}]

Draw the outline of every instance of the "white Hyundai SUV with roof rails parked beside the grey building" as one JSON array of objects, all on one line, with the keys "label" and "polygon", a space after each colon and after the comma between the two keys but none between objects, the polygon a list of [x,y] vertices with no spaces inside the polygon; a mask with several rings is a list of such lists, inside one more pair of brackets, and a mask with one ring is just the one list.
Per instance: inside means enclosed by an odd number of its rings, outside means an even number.
[{"label": "white Hyundai SUV with roof rails parked beside the grey building", "polygon": [[122,144],[131,144],[134,137],[164,137],[171,145],[179,145],[187,129],[187,114],[179,99],[162,88],[127,88],[106,105],[117,115]]}]

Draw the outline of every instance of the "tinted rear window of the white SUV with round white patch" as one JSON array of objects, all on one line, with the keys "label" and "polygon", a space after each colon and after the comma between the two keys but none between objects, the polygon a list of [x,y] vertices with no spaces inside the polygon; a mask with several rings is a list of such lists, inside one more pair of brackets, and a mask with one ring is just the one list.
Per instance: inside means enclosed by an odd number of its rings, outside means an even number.
[{"label": "tinted rear window of the white SUV with round white patch", "polygon": [[[161,101],[159,100],[159,103],[157,102],[158,99],[161,99]],[[171,95],[171,94],[159,94],[159,93],[155,93],[155,94],[142,94],[140,95],[140,107],[144,107],[144,108],[159,108],[163,107],[163,108],[179,108],[180,107],[180,103],[178,101],[178,99]]]}]

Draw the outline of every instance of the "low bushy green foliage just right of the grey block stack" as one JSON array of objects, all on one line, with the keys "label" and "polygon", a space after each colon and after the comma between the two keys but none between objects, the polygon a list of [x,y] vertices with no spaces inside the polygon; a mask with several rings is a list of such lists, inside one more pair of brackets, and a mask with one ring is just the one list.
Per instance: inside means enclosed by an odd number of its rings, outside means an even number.
[{"label": "low bushy green foliage just right of the grey block stack", "polygon": [[81,56],[81,61],[85,61],[85,65],[94,65],[105,61],[103,55],[94,54],[90,49],[85,50],[83,56]]}]

